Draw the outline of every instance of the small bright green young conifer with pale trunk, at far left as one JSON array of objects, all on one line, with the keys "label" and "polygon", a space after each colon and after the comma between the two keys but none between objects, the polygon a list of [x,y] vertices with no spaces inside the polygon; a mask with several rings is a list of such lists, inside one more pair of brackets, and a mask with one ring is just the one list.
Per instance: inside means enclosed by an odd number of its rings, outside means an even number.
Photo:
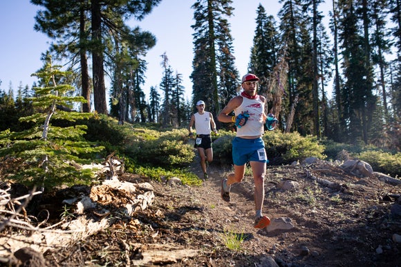
[{"label": "small bright green young conifer with pale trunk, at far left", "polygon": [[[93,115],[64,111],[86,100],[68,96],[73,86],[63,81],[71,74],[60,71],[60,66],[53,66],[50,58],[43,70],[33,75],[44,85],[33,88],[35,96],[30,98],[37,112],[19,119],[31,122],[32,128],[0,132],[0,157],[8,155],[21,162],[19,169],[13,170],[15,175],[11,179],[48,189],[62,184],[90,183],[91,170],[77,170],[73,164],[88,163],[88,155],[103,150],[102,146],[94,146],[84,139],[86,126],[75,123]],[[63,123],[68,126],[61,126]]]}]

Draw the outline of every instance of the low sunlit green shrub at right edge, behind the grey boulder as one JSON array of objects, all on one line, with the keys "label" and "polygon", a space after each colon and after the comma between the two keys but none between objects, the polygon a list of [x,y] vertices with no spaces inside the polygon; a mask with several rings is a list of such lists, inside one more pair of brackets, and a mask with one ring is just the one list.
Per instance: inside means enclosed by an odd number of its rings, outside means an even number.
[{"label": "low sunlit green shrub at right edge, behind the grey boulder", "polygon": [[[354,155],[353,155],[354,156]],[[366,150],[355,157],[371,164],[375,172],[383,172],[391,177],[401,177],[401,153]]]}]

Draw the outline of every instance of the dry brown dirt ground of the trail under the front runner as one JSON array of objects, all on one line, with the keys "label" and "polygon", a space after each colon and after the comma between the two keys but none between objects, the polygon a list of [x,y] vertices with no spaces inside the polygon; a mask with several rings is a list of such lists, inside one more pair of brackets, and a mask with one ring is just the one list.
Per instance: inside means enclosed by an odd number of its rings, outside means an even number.
[{"label": "dry brown dirt ground of the trail under the front runner", "polygon": [[[198,164],[192,170],[201,177]],[[111,210],[108,228],[44,253],[47,266],[401,266],[401,244],[392,239],[401,235],[401,220],[389,212],[400,186],[349,175],[326,161],[269,167],[263,212],[270,219],[289,218],[295,226],[269,232],[252,226],[252,177],[232,186],[229,204],[221,200],[221,179],[228,172],[230,166],[213,163],[199,187],[121,175],[121,181],[149,181],[153,204],[132,217]],[[299,187],[279,190],[283,180]],[[61,200],[43,201],[62,210]],[[239,246],[227,248],[230,241]]]}]

